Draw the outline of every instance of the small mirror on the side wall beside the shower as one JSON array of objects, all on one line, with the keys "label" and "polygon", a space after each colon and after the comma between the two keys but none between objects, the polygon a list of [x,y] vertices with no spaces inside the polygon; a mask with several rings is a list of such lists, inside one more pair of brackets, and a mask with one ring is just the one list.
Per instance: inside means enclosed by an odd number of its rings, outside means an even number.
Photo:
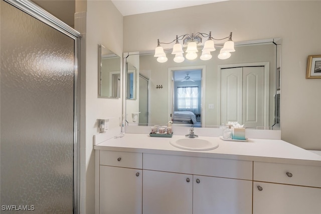
[{"label": "small mirror on the side wall beside the shower", "polygon": [[103,45],[98,54],[98,97],[120,98],[121,58]]}]

